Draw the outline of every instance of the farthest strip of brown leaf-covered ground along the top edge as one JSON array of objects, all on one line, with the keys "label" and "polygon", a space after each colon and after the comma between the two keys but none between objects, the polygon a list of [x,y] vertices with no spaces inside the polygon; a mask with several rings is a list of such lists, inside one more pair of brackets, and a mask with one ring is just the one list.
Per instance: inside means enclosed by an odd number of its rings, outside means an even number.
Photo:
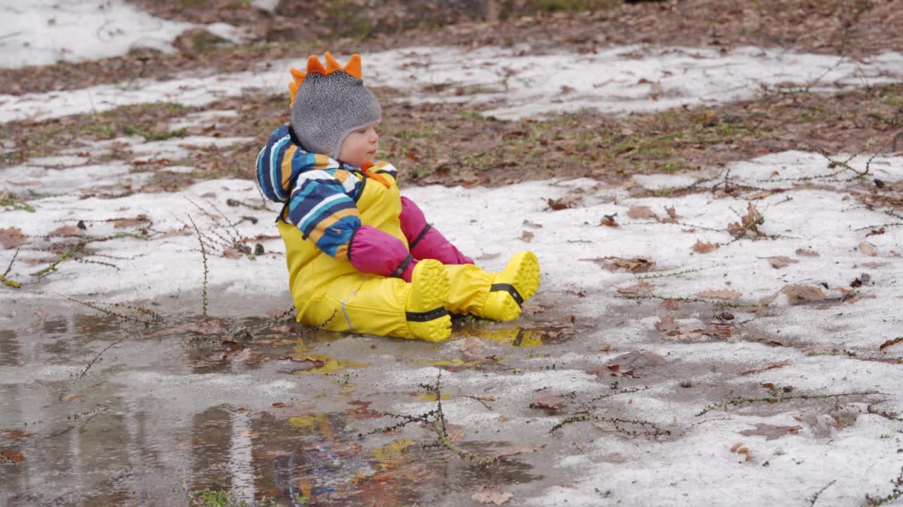
[{"label": "farthest strip of brown leaf-covered ground along the top edge", "polygon": [[[197,29],[178,52],[46,67],[0,69],[4,93],[85,88],[132,78],[167,79],[183,70],[253,69],[261,60],[323,51],[365,52],[416,45],[526,44],[532,53],[597,51],[612,44],[745,45],[864,58],[903,51],[903,0],[670,0],[620,3],[520,0],[333,0],[283,2],[275,13],[230,0],[134,3],[166,19],[233,23],[252,41],[234,46]],[[593,10],[569,9],[592,7]]]}]

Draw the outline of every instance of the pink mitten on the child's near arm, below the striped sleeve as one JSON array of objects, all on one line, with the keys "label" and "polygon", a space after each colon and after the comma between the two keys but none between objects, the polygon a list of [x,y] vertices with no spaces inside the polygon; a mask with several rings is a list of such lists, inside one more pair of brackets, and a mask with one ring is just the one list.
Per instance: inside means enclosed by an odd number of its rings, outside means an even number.
[{"label": "pink mitten on the child's near arm, below the striped sleeve", "polygon": [[360,226],[351,236],[348,259],[359,272],[400,277],[407,282],[417,263],[404,242],[371,226]]}]

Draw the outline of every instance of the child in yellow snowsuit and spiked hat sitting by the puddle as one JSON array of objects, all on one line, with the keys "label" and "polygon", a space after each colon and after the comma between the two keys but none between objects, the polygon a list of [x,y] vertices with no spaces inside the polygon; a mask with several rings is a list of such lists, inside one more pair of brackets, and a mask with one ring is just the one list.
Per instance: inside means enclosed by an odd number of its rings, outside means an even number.
[{"label": "child in yellow snowsuit and spiked hat sitting by the puddle", "polygon": [[452,332],[448,312],[517,318],[539,287],[536,256],[484,272],[399,195],[396,168],[372,161],[381,109],[360,57],[342,68],[327,52],[325,68],[312,56],[292,75],[292,122],[258,155],[257,182],[284,203],[277,224],[298,321],[439,342]]}]

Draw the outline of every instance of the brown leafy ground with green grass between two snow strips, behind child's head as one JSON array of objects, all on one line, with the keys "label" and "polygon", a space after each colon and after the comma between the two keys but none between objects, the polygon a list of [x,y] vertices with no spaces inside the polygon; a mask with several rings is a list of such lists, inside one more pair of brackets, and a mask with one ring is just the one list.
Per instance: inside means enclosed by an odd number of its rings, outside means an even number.
[{"label": "brown leafy ground with green grass between two snow strips, behind child's head", "polygon": [[[405,184],[494,186],[579,176],[617,182],[638,173],[693,171],[784,150],[903,150],[903,85],[836,93],[829,99],[805,91],[774,92],[717,107],[621,118],[583,112],[516,122],[485,117],[470,106],[401,104],[394,100],[398,92],[393,89],[377,89],[377,95],[384,106],[377,158],[396,164]],[[200,179],[254,178],[256,153],[286,117],[286,97],[234,97],[215,107],[239,114],[174,134],[247,136],[255,141],[193,148],[188,160],[141,164],[135,170],[198,168],[192,174],[162,176],[154,188],[167,191]],[[2,124],[0,136],[13,141],[17,151],[7,153],[0,167],[123,134],[172,135],[166,134],[170,122],[199,110],[150,104]],[[130,161],[134,156],[123,146],[100,158]]]}]

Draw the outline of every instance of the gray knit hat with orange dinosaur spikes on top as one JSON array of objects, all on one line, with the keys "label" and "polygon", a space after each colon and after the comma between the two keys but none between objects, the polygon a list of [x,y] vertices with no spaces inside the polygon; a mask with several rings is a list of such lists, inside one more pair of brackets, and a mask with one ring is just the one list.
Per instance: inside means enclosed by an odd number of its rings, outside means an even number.
[{"label": "gray knit hat with orange dinosaur spikes on top", "polygon": [[341,143],[351,132],[378,124],[382,110],[360,78],[360,57],[344,68],[326,52],[326,68],[311,56],[307,72],[292,69],[292,130],[307,152],[339,158]]}]

